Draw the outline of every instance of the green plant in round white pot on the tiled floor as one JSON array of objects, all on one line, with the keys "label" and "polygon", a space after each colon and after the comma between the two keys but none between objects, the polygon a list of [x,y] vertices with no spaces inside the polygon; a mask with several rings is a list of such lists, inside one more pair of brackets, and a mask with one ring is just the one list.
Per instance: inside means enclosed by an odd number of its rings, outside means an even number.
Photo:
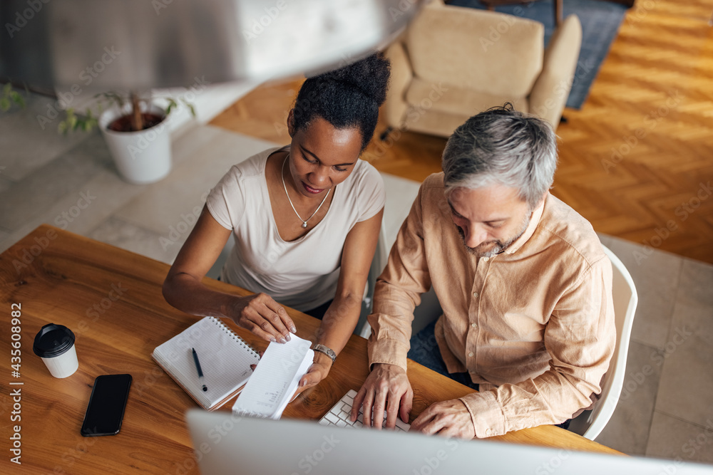
[{"label": "green plant in round white pot on the tiled floor", "polygon": [[[148,184],[165,177],[171,169],[170,130],[166,127],[166,118],[178,103],[168,98],[168,106],[163,109],[133,92],[128,98],[114,92],[96,97],[100,98],[98,116],[91,109],[84,115],[67,109],[67,118],[60,122],[58,130],[66,133],[99,127],[116,168],[130,183]],[[195,117],[193,105],[182,102]]]}]

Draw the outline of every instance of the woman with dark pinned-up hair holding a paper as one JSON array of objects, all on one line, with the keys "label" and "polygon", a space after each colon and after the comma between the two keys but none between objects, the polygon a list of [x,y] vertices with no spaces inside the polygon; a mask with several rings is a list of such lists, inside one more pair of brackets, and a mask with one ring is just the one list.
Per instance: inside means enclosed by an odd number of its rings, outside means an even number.
[{"label": "woman with dark pinned-up hair holding a paper", "polygon": [[[296,330],[277,301],[322,318],[301,387],[327,376],[359,320],[385,199],[379,172],[359,155],[374,135],[389,74],[376,53],[307,78],[287,118],[292,142],[222,177],[163,284],[175,308],[231,318],[267,341],[284,343]],[[221,279],[255,295],[200,283],[231,234]]]}]

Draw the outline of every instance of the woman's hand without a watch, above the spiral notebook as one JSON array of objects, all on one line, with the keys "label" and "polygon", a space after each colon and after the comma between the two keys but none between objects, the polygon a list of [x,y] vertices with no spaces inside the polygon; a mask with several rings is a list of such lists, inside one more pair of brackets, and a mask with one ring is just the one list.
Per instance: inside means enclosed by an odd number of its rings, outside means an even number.
[{"label": "woman's hand without a watch, above the spiral notebook", "polygon": [[229,316],[238,326],[270,342],[287,343],[289,333],[297,331],[287,311],[265,293],[235,297]]}]

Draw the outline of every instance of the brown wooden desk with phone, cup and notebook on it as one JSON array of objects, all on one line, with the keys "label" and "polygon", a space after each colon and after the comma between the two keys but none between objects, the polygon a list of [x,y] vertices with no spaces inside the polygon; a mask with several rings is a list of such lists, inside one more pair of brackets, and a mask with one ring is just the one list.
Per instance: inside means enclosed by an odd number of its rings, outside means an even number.
[{"label": "brown wooden desk with phone, cup and notebook on it", "polygon": [[[153,348],[198,318],[166,303],[161,285],[168,266],[51,226],[40,226],[0,255],[1,380],[0,427],[3,473],[97,474],[117,471],[198,473],[184,412],[195,402],[151,360]],[[226,283],[207,286],[245,295]],[[11,375],[11,306],[21,305],[20,377]],[[314,339],[319,325],[289,310],[297,334]],[[51,377],[32,353],[42,325],[58,323],[76,334],[79,370],[65,379]],[[266,344],[230,326],[256,348]],[[121,432],[111,437],[81,437],[79,428],[93,380],[98,375],[133,375]],[[292,402],[285,417],[319,419],[367,375],[366,340],[352,335],[327,380]],[[431,402],[470,390],[409,362],[416,417]],[[11,385],[10,383],[17,383]],[[21,383],[21,384],[20,384]],[[9,394],[19,390],[19,402]],[[19,404],[20,407],[14,406]],[[220,410],[229,411],[232,402]],[[13,412],[21,419],[11,421]],[[8,456],[9,438],[20,427],[21,467]],[[550,447],[618,453],[556,427],[525,429],[496,439]]]}]

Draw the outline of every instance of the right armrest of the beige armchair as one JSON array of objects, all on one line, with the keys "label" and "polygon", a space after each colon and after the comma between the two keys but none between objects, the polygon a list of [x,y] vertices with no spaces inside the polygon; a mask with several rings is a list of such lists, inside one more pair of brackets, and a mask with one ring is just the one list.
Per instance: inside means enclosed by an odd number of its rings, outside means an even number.
[{"label": "right armrest of the beige armchair", "polygon": [[568,16],[550,38],[542,72],[530,92],[530,113],[552,124],[556,130],[577,68],[582,45],[582,24]]}]

